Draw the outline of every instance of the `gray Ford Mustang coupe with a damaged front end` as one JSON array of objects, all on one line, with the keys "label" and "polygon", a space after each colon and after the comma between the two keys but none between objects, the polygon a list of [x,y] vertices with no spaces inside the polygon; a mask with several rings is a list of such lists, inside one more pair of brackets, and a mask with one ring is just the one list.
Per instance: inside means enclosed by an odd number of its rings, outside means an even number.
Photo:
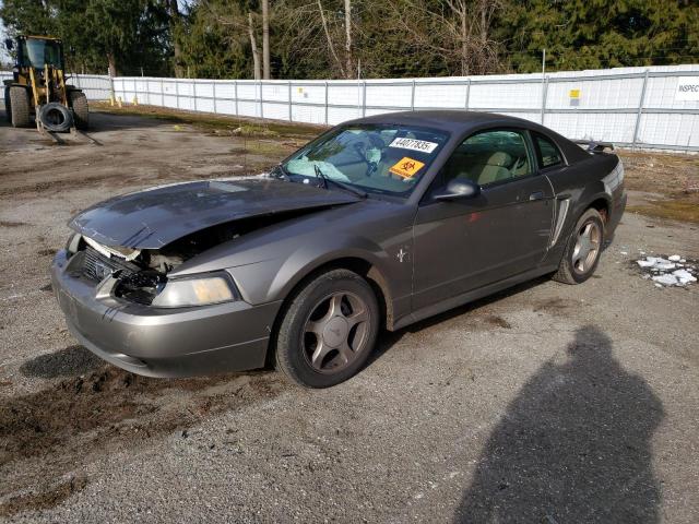
[{"label": "gray Ford Mustang coupe with a damaged front end", "polygon": [[483,112],[354,120],[266,176],[80,213],[54,288],[80,343],[135,373],[273,361],[333,385],[380,329],[544,274],[588,279],[626,205],[621,163],[593,145]]}]

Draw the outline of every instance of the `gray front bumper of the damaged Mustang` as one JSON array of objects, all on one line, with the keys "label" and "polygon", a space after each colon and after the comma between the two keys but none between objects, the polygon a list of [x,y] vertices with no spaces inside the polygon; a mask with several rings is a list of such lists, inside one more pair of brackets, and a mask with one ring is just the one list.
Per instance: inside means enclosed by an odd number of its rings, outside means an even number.
[{"label": "gray front bumper of the damaged Mustang", "polygon": [[97,297],[97,286],[59,251],[51,282],[71,333],[115,366],[147,377],[192,377],[261,368],[281,302],[153,308]]}]

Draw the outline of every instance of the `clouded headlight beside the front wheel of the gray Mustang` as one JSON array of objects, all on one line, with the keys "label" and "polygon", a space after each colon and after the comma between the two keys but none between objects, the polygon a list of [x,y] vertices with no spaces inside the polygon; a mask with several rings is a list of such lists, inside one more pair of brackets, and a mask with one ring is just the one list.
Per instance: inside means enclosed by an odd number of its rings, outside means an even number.
[{"label": "clouded headlight beside the front wheel of the gray Mustang", "polygon": [[226,273],[205,276],[170,278],[153,299],[157,308],[185,308],[230,302],[239,298]]}]

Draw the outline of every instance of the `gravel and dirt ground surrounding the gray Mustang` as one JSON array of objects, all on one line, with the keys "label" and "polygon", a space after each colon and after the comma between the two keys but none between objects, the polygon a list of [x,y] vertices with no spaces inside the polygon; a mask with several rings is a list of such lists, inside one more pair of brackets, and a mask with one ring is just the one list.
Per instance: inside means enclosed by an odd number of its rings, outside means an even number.
[{"label": "gravel and dirt ground surrounding the gray Mustang", "polygon": [[69,216],[293,144],[93,117],[103,146],[0,127],[0,520],[699,521],[699,286],[659,289],[633,263],[699,259],[696,225],[627,214],[584,285],[538,279],[384,333],[330,390],[145,379],[66,331],[48,265]]}]

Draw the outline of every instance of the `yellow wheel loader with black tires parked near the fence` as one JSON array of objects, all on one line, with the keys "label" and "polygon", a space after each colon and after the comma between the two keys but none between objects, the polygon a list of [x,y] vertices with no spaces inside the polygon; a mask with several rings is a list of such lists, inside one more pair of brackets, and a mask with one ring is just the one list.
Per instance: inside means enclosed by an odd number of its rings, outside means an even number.
[{"label": "yellow wheel loader with black tires parked near the fence", "polygon": [[50,36],[19,36],[7,39],[15,49],[13,79],[4,81],[4,107],[15,128],[28,127],[34,119],[39,131],[71,131],[88,124],[87,97],[68,85],[63,45]]}]

